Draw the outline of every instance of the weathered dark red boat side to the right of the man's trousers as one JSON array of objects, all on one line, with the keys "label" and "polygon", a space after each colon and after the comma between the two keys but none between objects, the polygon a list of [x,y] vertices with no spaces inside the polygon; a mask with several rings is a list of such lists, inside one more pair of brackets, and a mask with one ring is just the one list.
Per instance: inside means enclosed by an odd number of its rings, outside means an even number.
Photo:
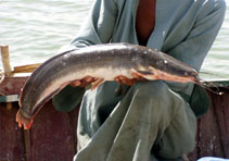
[{"label": "weathered dark red boat side to the right of the man's trousers", "polygon": [[229,90],[219,90],[224,95],[208,92],[212,106],[198,121],[196,147],[189,154],[191,161],[202,157],[229,159]]}]

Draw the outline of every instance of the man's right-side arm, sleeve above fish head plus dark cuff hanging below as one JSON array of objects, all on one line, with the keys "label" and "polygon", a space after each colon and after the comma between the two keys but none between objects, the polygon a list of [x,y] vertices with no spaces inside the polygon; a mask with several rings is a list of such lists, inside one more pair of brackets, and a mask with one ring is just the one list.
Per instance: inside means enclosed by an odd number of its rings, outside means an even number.
[{"label": "man's right-side arm, sleeve above fish head plus dark cuff hanging below", "polygon": [[[212,47],[222,24],[226,11],[224,0],[208,0],[204,3],[199,16],[183,41],[167,51],[195,70],[200,71],[204,58]],[[209,100],[206,91],[192,84],[168,83],[169,87],[188,96],[189,103],[196,116],[207,112]]]}]

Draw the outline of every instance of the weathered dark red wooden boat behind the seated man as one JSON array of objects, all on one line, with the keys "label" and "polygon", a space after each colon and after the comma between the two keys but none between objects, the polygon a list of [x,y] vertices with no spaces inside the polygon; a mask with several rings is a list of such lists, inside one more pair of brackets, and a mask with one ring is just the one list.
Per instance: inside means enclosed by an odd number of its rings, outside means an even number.
[{"label": "weathered dark red wooden boat behind the seated man", "polygon": [[[79,108],[69,113],[61,113],[49,101],[38,113],[29,131],[18,128],[15,122],[21,88],[38,65],[18,66],[14,70],[9,67],[11,73],[13,71],[16,74],[7,76],[0,84],[0,161],[71,161],[77,152]],[[198,120],[196,146],[188,154],[191,161],[202,157],[229,158],[228,87],[229,82],[218,82],[218,90],[224,95],[208,92],[212,106],[208,113]]]}]

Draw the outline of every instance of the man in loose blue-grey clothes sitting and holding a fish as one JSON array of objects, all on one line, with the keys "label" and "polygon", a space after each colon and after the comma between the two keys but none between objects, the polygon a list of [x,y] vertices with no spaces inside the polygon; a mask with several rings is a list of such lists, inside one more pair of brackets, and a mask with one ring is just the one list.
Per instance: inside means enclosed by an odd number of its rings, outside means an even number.
[{"label": "man in loose blue-grey clothes sitting and holding a fish", "polygon": [[[148,46],[183,61],[195,70],[208,52],[224,20],[224,0],[96,0],[87,23],[72,46],[129,42]],[[131,81],[119,77],[120,84]],[[104,83],[96,90],[76,82],[53,103],[60,111],[82,98],[76,161],[180,160],[194,148],[195,120],[207,111],[193,84],[133,82]],[[198,91],[198,92],[196,92]],[[84,97],[82,97],[84,95]],[[68,102],[71,96],[74,101]],[[204,101],[204,100],[201,100]],[[198,103],[196,103],[198,102]]]}]

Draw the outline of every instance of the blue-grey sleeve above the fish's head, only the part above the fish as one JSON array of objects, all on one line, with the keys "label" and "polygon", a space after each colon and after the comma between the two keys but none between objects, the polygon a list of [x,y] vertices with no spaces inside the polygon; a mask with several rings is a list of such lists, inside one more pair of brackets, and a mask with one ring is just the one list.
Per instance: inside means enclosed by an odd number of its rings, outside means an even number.
[{"label": "blue-grey sleeve above the fish's head, only the part above the fish", "polygon": [[225,11],[224,0],[206,1],[187,38],[167,52],[200,71],[222,24]]}]

